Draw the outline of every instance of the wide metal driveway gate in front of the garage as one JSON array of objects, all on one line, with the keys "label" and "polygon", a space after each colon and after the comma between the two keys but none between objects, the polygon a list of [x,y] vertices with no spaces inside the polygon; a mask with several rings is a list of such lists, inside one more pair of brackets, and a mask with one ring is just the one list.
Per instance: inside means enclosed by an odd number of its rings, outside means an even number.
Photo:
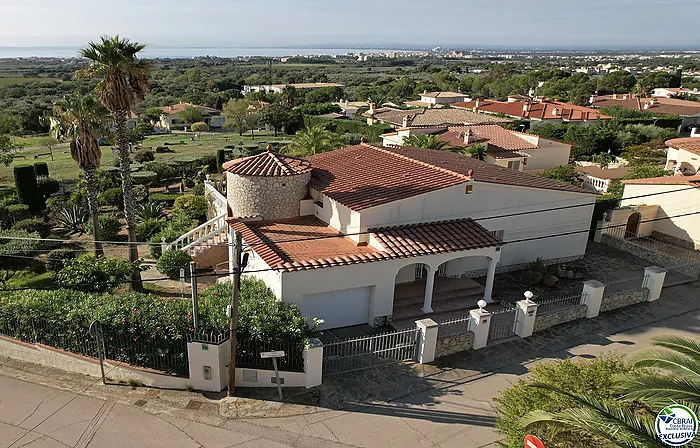
[{"label": "wide metal driveway gate in front of the garage", "polygon": [[419,336],[420,330],[411,328],[324,344],[323,374],[334,375],[392,362],[414,361]]}]

